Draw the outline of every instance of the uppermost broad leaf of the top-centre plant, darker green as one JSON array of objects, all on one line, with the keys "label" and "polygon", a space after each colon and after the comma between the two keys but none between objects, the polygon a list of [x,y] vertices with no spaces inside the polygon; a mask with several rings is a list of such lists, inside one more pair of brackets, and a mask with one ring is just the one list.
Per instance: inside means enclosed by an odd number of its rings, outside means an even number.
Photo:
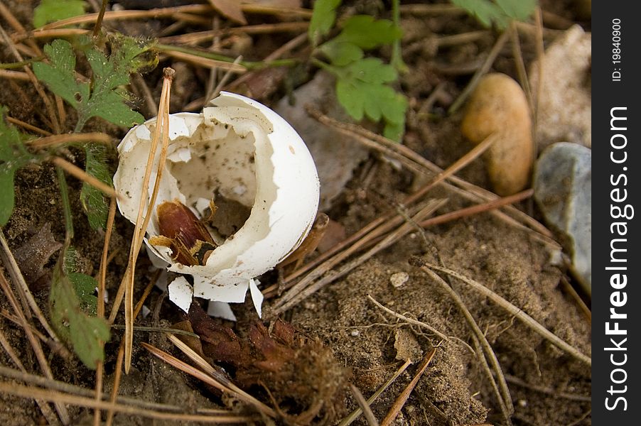
[{"label": "uppermost broad leaf of the top-centre plant, darker green", "polygon": [[352,43],[363,49],[373,49],[399,40],[400,28],[387,19],[375,19],[370,15],[350,16],[343,23],[343,31],[334,39]]}]

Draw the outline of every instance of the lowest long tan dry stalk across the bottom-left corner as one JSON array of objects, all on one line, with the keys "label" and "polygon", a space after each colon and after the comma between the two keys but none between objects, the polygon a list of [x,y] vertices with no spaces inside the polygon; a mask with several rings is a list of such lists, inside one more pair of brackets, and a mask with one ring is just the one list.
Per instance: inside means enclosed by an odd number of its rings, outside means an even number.
[{"label": "lowest long tan dry stalk across the bottom-left corner", "polygon": [[93,398],[73,395],[60,391],[36,388],[33,386],[16,385],[16,383],[0,382],[0,393],[15,395],[21,398],[48,400],[57,405],[69,404],[87,408],[99,408],[102,410],[114,410],[118,413],[147,417],[156,420],[179,421],[179,422],[203,422],[203,423],[235,423],[247,424],[256,420],[254,417],[235,415],[195,415],[182,413],[165,413],[158,410],[149,410],[119,403],[97,401]]}]

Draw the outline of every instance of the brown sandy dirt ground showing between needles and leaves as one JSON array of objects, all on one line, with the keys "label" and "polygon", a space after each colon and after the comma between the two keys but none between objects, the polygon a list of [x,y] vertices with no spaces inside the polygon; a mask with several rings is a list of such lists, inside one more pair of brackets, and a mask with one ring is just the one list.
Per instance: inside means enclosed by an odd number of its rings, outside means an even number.
[{"label": "brown sandy dirt ground showing between needles and leaves", "polygon": [[[354,3],[356,7],[365,7],[362,4],[372,2]],[[547,3],[554,4],[549,10],[572,18],[567,2],[544,2],[544,6]],[[561,3],[564,3],[564,6],[559,6]],[[22,2],[18,4],[20,6],[16,5],[14,13],[23,22],[28,22],[30,6],[25,6]],[[407,26],[416,24],[409,18],[405,23]],[[449,18],[435,17],[429,19],[426,28],[434,33],[458,33],[477,27],[469,18],[452,21]],[[487,51],[492,45],[492,40],[489,38],[478,43],[448,48],[439,53],[438,62],[449,65],[463,64],[471,58],[476,58],[479,53]],[[529,60],[533,48],[532,45],[527,45],[527,40],[524,43],[524,53]],[[269,51],[271,44],[263,43],[260,46]],[[451,97],[456,97],[469,75],[438,74],[434,70],[436,59],[430,57],[426,50],[421,52],[425,55],[416,53],[411,58],[406,58],[412,71],[404,77],[402,83],[409,97],[424,99],[440,82],[446,84],[446,92]],[[497,60],[495,70],[514,75],[514,64],[510,58],[506,50]],[[2,60],[8,60],[6,52],[2,54]],[[20,90],[16,90],[16,84],[18,83],[10,82],[0,85],[0,104],[7,105],[12,116],[28,121],[38,110],[38,106],[34,106],[29,100],[36,99],[36,96],[26,84],[20,83]],[[196,95],[197,93],[193,94]],[[274,99],[275,97],[271,100]],[[269,100],[264,99],[265,102]],[[446,117],[443,115],[443,108],[446,108],[446,105],[437,103],[436,112],[440,111],[440,114],[429,119],[424,116],[410,116],[406,144],[438,165],[446,166],[470,147],[462,140],[458,131],[460,116]],[[95,126],[99,127],[98,124]],[[122,131],[109,131],[115,136],[122,136]],[[71,148],[68,154],[70,158],[77,158],[79,163],[82,163],[82,156],[77,151]],[[412,185],[416,185],[414,177],[408,172],[399,171],[375,157],[372,157],[367,166],[372,164],[376,168],[373,179],[364,184],[362,177],[367,173],[357,170],[355,178],[334,203],[333,209],[328,212],[332,219],[345,226],[348,234],[394,208],[395,203],[411,191]],[[362,167],[365,168],[365,165]],[[460,176],[478,185],[487,183],[482,160],[468,166]],[[80,254],[81,272],[95,273],[102,252],[103,235],[90,229],[82,214],[77,197],[80,185],[72,178],[68,181],[72,189],[72,207],[77,212],[74,218],[75,246]],[[443,197],[446,194],[435,190],[429,196]],[[465,205],[456,197],[452,197],[446,207],[438,213]],[[519,208],[536,217],[537,212],[530,202],[523,203]],[[21,170],[16,178],[16,210],[4,228],[11,249],[18,249],[28,236],[35,234],[47,223],[51,225],[55,239],[63,241],[62,217],[60,195],[55,185],[55,170],[46,164]],[[130,236],[131,225],[118,218],[111,243],[111,250],[116,251],[116,255],[109,265],[107,278],[109,290],[112,292],[115,292],[119,277],[126,266]],[[435,253],[438,253],[438,258]],[[564,277],[565,271],[551,266],[548,249],[532,239],[530,234],[500,222],[491,214],[480,214],[436,226],[426,229],[424,234],[416,231],[382,251],[345,278],[318,291],[286,315],[300,332],[313,339],[320,339],[333,350],[338,364],[351,371],[352,383],[360,388],[366,398],[387,381],[402,364],[397,355],[409,354],[414,361],[419,361],[426,351],[438,346],[434,359],[394,425],[476,425],[484,422],[502,424],[500,410],[488,380],[468,346],[471,344],[470,329],[463,315],[433,280],[418,268],[409,265],[408,260],[411,256],[420,256],[432,263],[442,261],[448,268],[483,283],[521,307],[551,332],[573,344],[584,354],[590,354],[590,322],[578,309],[576,302],[561,288],[561,278]],[[55,263],[55,256],[49,260],[43,259],[43,263],[46,271]],[[138,271],[139,288],[144,288],[151,279],[149,263],[144,256],[141,256]],[[400,288],[394,288],[389,283],[390,275],[397,272],[409,274],[408,282]],[[273,275],[269,275],[263,282],[269,284],[269,280],[274,279]],[[551,393],[545,393],[522,384],[510,384],[515,405],[515,415],[512,417],[515,425],[591,424],[589,415],[586,415],[589,413],[590,403],[570,400],[560,395],[590,395],[590,368],[551,346],[538,334],[524,327],[519,320],[515,320],[462,283],[453,280],[452,285],[487,336],[503,372],[524,383],[551,389]],[[396,312],[430,324],[453,339],[439,344],[439,339],[425,329],[397,320],[379,310],[367,299],[367,295],[372,295]],[[46,306],[46,286],[36,293],[36,297],[41,306]],[[266,302],[268,307],[269,304],[270,301]],[[141,321],[142,325],[166,326],[180,319],[175,307],[172,307],[159,292],[151,295],[148,306],[153,313]],[[4,310],[10,309],[4,297],[0,297],[0,307]],[[239,328],[245,320],[251,320],[251,315],[247,312],[249,305],[247,310],[243,307],[237,309],[241,320]],[[122,324],[122,318],[117,322]],[[0,318],[0,329],[14,346],[16,353],[21,356],[28,370],[37,371],[36,361],[21,329],[4,317]],[[239,333],[242,334],[242,331]],[[107,388],[110,386],[109,381],[114,370],[119,330],[115,330],[114,334],[115,338],[106,348]],[[136,334],[136,342],[141,341],[151,342],[161,349],[172,350],[170,344],[159,334]],[[78,361],[65,361],[53,355],[50,361],[54,376],[59,380],[92,388],[92,373],[85,371]],[[0,351],[0,363],[4,366],[11,365],[4,351]],[[377,418],[384,417],[394,399],[411,380],[415,370],[415,366],[410,366],[372,406]],[[124,378],[121,393],[187,408],[215,408],[220,403],[215,395],[196,381],[156,361],[143,349],[134,353],[134,373]],[[348,410],[356,408],[355,400],[348,392],[345,393],[345,405]],[[74,424],[90,424],[90,413],[75,408],[71,409],[71,413],[76,416]],[[0,395],[1,424],[31,425],[42,420],[37,405],[31,400]],[[136,417],[117,416],[116,420],[116,424],[119,425],[149,424],[148,420]],[[366,423],[361,417],[355,424]]]}]

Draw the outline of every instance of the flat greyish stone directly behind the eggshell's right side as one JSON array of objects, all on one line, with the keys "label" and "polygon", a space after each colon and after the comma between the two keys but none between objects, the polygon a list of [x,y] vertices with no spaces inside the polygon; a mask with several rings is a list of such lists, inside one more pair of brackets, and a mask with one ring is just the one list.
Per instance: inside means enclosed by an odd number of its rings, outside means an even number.
[{"label": "flat greyish stone directly behind the eggshell's right side", "polygon": [[325,72],[318,72],[310,82],[293,92],[295,105],[289,98],[281,99],[274,110],[296,129],[305,141],[316,163],[321,180],[321,210],[331,207],[332,201],[345,188],[357,166],[367,158],[369,151],[360,143],[308,116],[304,106],[311,104],[333,119],[350,121],[334,94],[335,81]]}]

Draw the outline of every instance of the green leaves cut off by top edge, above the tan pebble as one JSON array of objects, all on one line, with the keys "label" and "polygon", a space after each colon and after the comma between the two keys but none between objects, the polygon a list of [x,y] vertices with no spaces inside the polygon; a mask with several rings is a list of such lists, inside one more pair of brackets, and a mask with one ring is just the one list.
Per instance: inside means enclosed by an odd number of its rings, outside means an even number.
[{"label": "green leaves cut off by top edge, above the tan pebble", "polygon": [[511,21],[525,21],[537,8],[537,0],[451,0],[483,26],[505,29]]}]

